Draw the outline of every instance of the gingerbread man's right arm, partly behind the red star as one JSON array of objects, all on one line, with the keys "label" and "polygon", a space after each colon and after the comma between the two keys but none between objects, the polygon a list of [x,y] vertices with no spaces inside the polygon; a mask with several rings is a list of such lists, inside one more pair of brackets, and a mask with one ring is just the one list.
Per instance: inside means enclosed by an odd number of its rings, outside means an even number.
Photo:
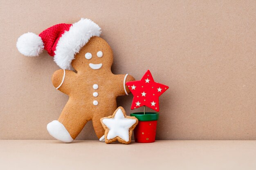
[{"label": "gingerbread man's right arm, partly behind the red star", "polygon": [[117,95],[121,96],[121,95],[128,95],[130,94],[130,90],[129,88],[126,86],[126,82],[131,82],[131,81],[135,81],[135,78],[132,77],[131,75],[128,74],[121,74],[121,75],[116,75],[116,83],[117,83],[117,89],[119,89],[117,91]]}]

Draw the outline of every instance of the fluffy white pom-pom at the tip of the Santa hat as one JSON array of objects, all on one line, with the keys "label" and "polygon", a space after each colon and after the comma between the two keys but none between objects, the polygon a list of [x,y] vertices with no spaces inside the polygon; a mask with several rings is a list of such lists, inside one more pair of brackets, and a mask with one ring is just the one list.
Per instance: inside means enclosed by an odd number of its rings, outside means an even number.
[{"label": "fluffy white pom-pom at the tip of the Santa hat", "polygon": [[44,44],[42,38],[35,33],[25,33],[18,38],[18,51],[23,55],[34,57],[42,53]]}]

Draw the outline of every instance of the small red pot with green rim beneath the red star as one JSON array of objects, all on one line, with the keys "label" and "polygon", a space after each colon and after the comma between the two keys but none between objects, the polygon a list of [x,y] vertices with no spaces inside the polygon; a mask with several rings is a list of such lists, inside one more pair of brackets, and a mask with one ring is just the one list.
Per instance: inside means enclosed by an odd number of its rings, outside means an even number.
[{"label": "small red pot with green rim beneath the red star", "polygon": [[155,134],[157,130],[157,120],[159,113],[154,112],[138,112],[131,113],[131,116],[139,120],[136,128],[133,130],[135,142],[151,143],[155,141]]}]

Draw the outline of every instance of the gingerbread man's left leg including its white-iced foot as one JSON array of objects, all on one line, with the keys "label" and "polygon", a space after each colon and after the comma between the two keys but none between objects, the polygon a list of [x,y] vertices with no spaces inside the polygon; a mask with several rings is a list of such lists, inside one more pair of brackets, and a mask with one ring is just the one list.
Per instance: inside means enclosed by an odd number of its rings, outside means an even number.
[{"label": "gingerbread man's left leg including its white-iced foot", "polygon": [[91,116],[85,114],[86,108],[80,102],[80,100],[69,99],[58,120],[47,125],[47,130],[55,139],[65,143],[72,142],[85,124],[91,120]]}]

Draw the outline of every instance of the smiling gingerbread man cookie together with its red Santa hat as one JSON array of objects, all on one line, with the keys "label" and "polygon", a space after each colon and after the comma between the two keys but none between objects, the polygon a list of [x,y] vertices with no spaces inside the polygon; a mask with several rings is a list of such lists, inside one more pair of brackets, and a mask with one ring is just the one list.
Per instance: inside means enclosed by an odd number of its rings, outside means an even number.
[{"label": "smiling gingerbread man cookie together with its red Santa hat", "polygon": [[100,119],[112,115],[117,96],[130,93],[126,82],[135,80],[111,72],[113,53],[99,38],[100,33],[97,24],[82,18],[74,24],[54,25],[39,35],[25,33],[18,39],[20,53],[38,56],[45,49],[62,68],[52,75],[52,84],[69,99],[58,120],[47,125],[50,135],[60,141],[72,142],[90,120],[97,137],[102,137]]}]

